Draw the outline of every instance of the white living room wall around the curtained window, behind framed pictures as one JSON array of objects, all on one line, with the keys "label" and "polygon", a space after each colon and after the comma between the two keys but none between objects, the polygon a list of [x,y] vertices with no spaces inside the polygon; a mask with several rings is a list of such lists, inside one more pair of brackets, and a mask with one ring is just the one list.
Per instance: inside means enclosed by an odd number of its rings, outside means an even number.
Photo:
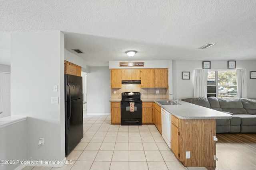
[{"label": "white living room wall around the curtained window, behind framed pictures", "polygon": [[[173,66],[173,91],[178,99],[193,98],[194,96],[194,70],[202,68],[203,61],[172,61]],[[211,69],[227,69],[228,61],[211,61]],[[256,98],[256,80],[249,78],[250,71],[255,71],[256,60],[238,60],[237,69],[246,69],[248,98]],[[190,72],[190,80],[182,80],[182,72]]]}]

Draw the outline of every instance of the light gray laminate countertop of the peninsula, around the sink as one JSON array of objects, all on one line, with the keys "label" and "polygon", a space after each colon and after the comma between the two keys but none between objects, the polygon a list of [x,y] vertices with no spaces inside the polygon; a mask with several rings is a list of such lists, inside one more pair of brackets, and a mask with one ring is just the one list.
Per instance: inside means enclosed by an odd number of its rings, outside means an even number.
[{"label": "light gray laminate countertop of the peninsula, around the sink", "polygon": [[180,119],[231,119],[232,115],[209,109],[206,107],[198,106],[188,102],[179,100],[181,105],[161,105],[155,101],[160,107],[170,112]]}]

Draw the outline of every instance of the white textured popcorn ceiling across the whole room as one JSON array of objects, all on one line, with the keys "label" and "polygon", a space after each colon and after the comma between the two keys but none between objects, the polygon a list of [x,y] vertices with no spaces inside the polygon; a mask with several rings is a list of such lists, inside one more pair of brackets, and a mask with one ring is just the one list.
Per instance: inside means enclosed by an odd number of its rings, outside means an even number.
[{"label": "white textured popcorn ceiling across the whole room", "polygon": [[[256,59],[255,0],[0,0],[0,64],[10,35],[60,30],[88,66],[124,60]],[[216,43],[208,49],[198,49]],[[80,49],[77,54],[71,49]],[[134,57],[124,52],[136,50]]]}]

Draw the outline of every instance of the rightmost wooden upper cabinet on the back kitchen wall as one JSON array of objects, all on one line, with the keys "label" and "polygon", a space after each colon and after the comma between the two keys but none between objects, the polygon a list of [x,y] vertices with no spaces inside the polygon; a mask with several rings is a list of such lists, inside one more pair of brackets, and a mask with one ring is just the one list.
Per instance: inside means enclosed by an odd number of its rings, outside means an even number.
[{"label": "rightmost wooden upper cabinet on the back kitchen wall", "polygon": [[154,87],[168,88],[168,69],[154,69]]}]

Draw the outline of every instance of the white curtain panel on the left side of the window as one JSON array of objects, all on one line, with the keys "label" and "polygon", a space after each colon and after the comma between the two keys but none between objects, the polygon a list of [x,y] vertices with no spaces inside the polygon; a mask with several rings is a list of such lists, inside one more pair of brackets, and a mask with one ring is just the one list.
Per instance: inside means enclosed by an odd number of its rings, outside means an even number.
[{"label": "white curtain panel on the left side of the window", "polygon": [[194,98],[207,98],[208,69],[195,70]]}]

